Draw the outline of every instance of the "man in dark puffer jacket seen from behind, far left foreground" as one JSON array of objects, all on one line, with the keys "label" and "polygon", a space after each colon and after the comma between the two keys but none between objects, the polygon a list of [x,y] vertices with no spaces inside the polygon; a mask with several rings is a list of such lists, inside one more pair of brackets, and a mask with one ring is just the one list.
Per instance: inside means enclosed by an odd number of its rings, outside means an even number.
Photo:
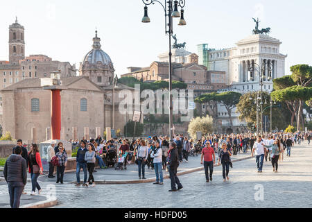
[{"label": "man in dark puffer jacket seen from behind, far left foreground", "polygon": [[21,146],[16,146],[14,154],[8,157],[3,169],[4,178],[8,183],[10,205],[12,208],[19,208],[21,194],[27,182],[27,164],[26,160],[21,157],[21,153]]}]

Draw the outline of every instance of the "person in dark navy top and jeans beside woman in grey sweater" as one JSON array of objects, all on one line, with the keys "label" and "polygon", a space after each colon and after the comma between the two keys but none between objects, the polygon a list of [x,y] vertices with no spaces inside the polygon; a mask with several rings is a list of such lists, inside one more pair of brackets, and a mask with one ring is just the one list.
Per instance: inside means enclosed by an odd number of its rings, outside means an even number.
[{"label": "person in dark navy top and jeans beside woman in grey sweater", "polygon": [[87,161],[85,161],[85,153],[87,152],[85,141],[81,140],[80,148],[78,148],[76,156],[76,186],[80,186],[80,169],[83,169],[83,186],[87,187]]}]

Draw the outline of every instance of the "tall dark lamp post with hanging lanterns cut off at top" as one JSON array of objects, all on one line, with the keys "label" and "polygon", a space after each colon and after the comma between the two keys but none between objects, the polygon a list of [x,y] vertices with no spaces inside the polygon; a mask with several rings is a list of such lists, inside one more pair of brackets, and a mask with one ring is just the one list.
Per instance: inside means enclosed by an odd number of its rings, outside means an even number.
[{"label": "tall dark lamp post with hanging lanterns cut off at top", "polygon": [[[173,0],[165,0],[164,4],[161,3],[160,1],[157,0],[142,0],[143,3],[145,4],[144,6],[144,17],[142,19],[143,23],[148,23],[150,22],[150,18],[148,17],[148,5],[150,4],[155,4],[155,2],[158,2],[162,5],[162,8],[164,8],[165,12],[165,31],[166,35],[168,34],[169,37],[169,98],[170,98],[170,105],[169,105],[169,136],[170,139],[172,139],[172,132],[173,132],[173,102],[172,102],[172,69],[171,69],[171,36],[173,34],[173,17],[180,17],[180,22],[179,26],[185,26],[187,22],[184,20],[184,6],[185,6],[185,0],[179,0],[179,1],[174,1]],[[181,8],[181,13],[177,10],[178,6]],[[167,12],[168,10],[168,12]],[[168,18],[167,18],[168,17]],[[167,24],[167,19],[168,19],[168,24]],[[168,28],[167,28],[168,26]]]}]

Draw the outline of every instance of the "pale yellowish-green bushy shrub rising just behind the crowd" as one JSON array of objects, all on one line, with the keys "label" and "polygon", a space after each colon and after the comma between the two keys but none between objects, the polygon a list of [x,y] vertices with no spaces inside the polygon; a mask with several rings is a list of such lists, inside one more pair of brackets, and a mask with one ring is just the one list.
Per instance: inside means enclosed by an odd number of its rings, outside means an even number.
[{"label": "pale yellowish-green bushy shrub rising just behind the crowd", "polygon": [[189,129],[187,130],[191,138],[196,138],[197,132],[202,132],[202,135],[207,135],[214,132],[212,117],[196,117],[191,119]]}]

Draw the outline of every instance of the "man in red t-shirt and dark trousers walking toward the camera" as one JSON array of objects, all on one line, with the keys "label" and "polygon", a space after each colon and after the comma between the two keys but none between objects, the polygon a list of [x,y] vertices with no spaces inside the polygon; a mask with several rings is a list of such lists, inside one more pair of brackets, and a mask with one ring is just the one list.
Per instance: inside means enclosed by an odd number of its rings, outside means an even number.
[{"label": "man in red t-shirt and dark trousers walking toward the camera", "polygon": [[210,181],[212,181],[212,173],[214,172],[216,155],[214,154],[214,148],[211,147],[210,142],[207,142],[205,148],[202,148],[202,155],[200,156],[200,164],[202,164],[202,159],[204,159],[206,182],[209,182],[209,178]]}]

